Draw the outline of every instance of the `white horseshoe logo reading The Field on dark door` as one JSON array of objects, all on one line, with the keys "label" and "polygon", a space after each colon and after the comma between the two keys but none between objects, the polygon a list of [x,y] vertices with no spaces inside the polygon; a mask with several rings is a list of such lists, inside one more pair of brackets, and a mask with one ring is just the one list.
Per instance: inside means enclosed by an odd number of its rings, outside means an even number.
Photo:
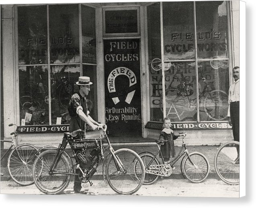
[{"label": "white horseshoe logo reading The Field on dark door", "polygon": [[[116,86],[115,86],[115,79],[119,75],[125,75],[129,78],[129,89],[125,90],[124,92],[117,93]],[[137,80],[136,80],[135,74],[133,73],[133,71],[131,71],[127,67],[118,67],[113,71],[111,71],[108,77],[108,89],[109,89],[109,93],[112,94],[111,97],[115,105],[120,102],[118,97],[124,94],[127,94],[125,98],[125,102],[128,104],[131,103],[131,100],[133,99],[133,95],[135,93],[136,83],[137,83]]]}]

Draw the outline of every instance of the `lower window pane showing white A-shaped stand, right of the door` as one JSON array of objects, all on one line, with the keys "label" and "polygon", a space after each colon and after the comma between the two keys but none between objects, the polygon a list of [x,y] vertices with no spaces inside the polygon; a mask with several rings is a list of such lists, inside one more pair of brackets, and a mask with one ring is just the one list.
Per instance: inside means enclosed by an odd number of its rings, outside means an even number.
[{"label": "lower window pane showing white A-shaped stand, right of the door", "polygon": [[[166,64],[164,73],[166,116],[171,121],[197,121],[197,91],[195,62]],[[163,109],[162,80],[158,81],[161,95],[159,107]]]}]

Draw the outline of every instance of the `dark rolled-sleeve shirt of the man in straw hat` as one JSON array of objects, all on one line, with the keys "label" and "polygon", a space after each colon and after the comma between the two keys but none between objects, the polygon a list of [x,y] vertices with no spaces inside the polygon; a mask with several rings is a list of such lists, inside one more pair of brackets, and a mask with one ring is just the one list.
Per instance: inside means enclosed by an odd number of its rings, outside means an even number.
[{"label": "dark rolled-sleeve shirt of the man in straw hat", "polygon": [[78,129],[85,131],[85,122],[82,119],[80,119],[80,117],[77,114],[77,109],[80,106],[82,107],[82,111],[84,112],[84,114],[87,115],[88,108],[86,103],[86,97],[82,97],[78,92],[72,95],[69,102],[68,112],[71,117],[69,127],[70,132],[76,131]]}]

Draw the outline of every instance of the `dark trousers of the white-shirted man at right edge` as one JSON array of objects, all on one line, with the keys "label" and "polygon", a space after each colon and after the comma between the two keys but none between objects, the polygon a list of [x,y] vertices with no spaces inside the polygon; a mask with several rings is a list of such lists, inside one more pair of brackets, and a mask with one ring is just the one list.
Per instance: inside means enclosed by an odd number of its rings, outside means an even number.
[{"label": "dark trousers of the white-shirted man at right edge", "polygon": [[[230,119],[232,123],[233,137],[235,141],[240,141],[239,137],[239,101],[230,103]],[[239,154],[239,147],[238,147]]]}]

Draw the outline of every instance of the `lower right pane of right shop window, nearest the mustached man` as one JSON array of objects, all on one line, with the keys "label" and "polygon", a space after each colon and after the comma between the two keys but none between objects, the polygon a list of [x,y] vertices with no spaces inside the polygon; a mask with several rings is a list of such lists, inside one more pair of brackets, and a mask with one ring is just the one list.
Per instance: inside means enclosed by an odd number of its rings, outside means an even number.
[{"label": "lower right pane of right shop window, nearest the mustached man", "polygon": [[215,69],[210,61],[200,61],[198,71],[200,121],[227,120],[229,69]]}]

